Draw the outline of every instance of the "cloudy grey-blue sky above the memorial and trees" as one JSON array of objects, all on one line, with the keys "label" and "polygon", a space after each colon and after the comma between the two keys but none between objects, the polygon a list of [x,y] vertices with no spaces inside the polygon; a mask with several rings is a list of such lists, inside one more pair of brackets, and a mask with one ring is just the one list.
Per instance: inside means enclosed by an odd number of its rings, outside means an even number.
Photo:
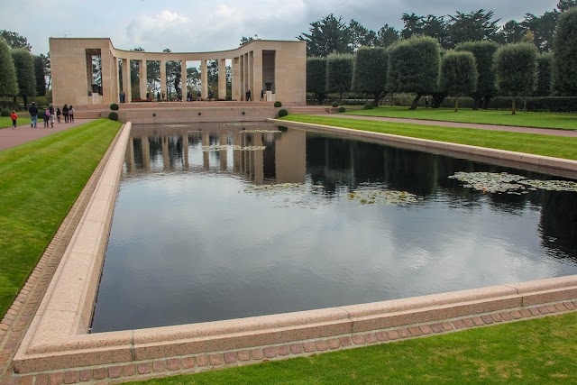
[{"label": "cloudy grey-blue sky above the memorial and trees", "polygon": [[502,23],[552,11],[558,0],[21,0],[3,15],[0,29],[18,32],[36,54],[49,37],[109,37],[114,47],[174,52],[231,50],[243,36],[295,40],[327,14],[355,19],[378,31],[401,29],[402,14],[491,10]]}]

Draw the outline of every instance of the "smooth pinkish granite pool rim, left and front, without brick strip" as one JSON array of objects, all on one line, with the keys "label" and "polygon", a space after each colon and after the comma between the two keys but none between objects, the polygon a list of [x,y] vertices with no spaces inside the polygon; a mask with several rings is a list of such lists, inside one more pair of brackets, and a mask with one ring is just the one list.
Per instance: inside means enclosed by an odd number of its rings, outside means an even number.
[{"label": "smooth pinkish granite pool rim, left and front, without brick strip", "polygon": [[[569,276],[348,307],[88,335],[130,129],[131,124],[124,127],[14,357],[17,373],[86,370],[98,365],[341,338],[577,298],[577,276]],[[78,255],[78,261],[73,261],[73,254]]]}]

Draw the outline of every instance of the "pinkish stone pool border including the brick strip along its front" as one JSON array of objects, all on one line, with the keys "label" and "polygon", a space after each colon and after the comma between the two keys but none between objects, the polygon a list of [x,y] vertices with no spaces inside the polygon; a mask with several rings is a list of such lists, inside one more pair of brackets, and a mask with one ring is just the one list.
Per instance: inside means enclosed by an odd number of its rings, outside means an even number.
[{"label": "pinkish stone pool border including the brick strip along its front", "polygon": [[20,383],[116,382],[203,371],[576,308],[577,276],[570,276],[289,314],[87,334],[130,129],[131,124],[124,126],[14,357],[14,378]]}]

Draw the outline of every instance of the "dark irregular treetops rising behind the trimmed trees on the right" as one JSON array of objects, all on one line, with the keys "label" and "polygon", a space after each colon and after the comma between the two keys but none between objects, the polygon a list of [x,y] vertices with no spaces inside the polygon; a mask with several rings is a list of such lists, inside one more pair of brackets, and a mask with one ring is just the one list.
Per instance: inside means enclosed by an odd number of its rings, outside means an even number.
[{"label": "dark irregular treetops rising behind the trimmed trees on the right", "polygon": [[[297,36],[307,42],[307,56],[325,58],[331,53],[354,53],[360,47],[389,47],[400,39],[415,35],[430,36],[442,49],[454,49],[467,41],[494,41],[498,44],[521,42],[527,32],[533,34],[537,50],[553,50],[554,31],[557,20],[564,11],[577,5],[577,0],[560,0],[557,7],[541,15],[526,14],[518,22],[510,20],[500,25],[493,11],[480,9],[471,13],[437,16],[434,14],[403,14],[402,30],[398,31],[388,23],[379,31],[372,31],[352,19],[348,25],[343,18],[328,14],[323,19],[310,23],[308,32]],[[243,38],[250,41],[252,38]],[[243,44],[243,41],[241,41]]]}]

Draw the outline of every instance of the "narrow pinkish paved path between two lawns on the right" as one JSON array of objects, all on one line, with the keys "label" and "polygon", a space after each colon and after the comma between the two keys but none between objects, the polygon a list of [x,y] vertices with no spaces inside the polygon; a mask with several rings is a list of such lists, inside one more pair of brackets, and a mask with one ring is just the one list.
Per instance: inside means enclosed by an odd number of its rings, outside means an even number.
[{"label": "narrow pinkish paved path between two lawns on the right", "polygon": [[477,128],[477,129],[481,129],[481,130],[509,131],[511,133],[538,133],[541,135],[577,137],[577,117],[575,118],[576,130],[572,131],[572,130],[559,130],[559,129],[553,129],[553,128],[530,128],[530,127],[517,127],[517,126],[511,126],[511,125],[455,123],[455,122],[442,122],[442,121],[436,121],[436,120],[404,119],[404,118],[397,118],[397,117],[381,117],[381,116],[361,116],[361,115],[341,115],[341,114],[319,114],[317,116],[375,120],[375,121],[380,121],[380,122],[393,122],[393,123],[439,125],[442,127]]}]

